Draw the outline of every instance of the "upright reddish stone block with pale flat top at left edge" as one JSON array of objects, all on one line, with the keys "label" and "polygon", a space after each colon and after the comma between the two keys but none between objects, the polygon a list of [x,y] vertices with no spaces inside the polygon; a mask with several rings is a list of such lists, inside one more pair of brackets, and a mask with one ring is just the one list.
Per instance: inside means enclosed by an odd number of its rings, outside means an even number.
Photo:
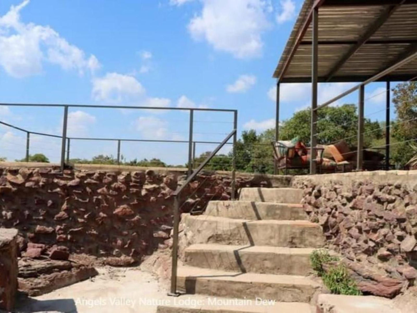
[{"label": "upright reddish stone block with pale flat top at left edge", "polygon": [[11,311],[18,289],[17,237],[15,229],[0,228],[0,310]]}]

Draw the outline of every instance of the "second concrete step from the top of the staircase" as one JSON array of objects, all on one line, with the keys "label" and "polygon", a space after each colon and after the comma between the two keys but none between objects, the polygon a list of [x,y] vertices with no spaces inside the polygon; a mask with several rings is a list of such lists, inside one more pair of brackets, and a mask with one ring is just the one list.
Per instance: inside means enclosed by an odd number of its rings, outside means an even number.
[{"label": "second concrete step from the top of the staircase", "polygon": [[307,220],[302,204],[253,201],[210,201],[205,215],[244,220]]}]

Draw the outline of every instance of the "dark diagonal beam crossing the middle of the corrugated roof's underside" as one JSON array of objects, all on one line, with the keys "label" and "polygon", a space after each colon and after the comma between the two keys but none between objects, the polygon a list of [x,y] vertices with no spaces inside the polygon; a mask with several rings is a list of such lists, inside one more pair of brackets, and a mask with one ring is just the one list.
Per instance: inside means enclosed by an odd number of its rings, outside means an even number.
[{"label": "dark diagonal beam crossing the middle of the corrugated roof's underside", "polygon": [[367,31],[359,38],[358,42],[352,46],[347,53],[345,53],[342,58],[336,63],[336,65],[329,71],[327,74],[327,81],[330,81],[334,74],[339,71],[340,68],[346,63],[351,56],[353,56],[357,50],[359,50],[362,45],[371,38],[371,36],[385,23],[385,21],[399,8],[405,0],[397,1],[396,5],[389,5],[388,8],[379,15],[379,18],[375,20],[371,25],[369,25]]}]

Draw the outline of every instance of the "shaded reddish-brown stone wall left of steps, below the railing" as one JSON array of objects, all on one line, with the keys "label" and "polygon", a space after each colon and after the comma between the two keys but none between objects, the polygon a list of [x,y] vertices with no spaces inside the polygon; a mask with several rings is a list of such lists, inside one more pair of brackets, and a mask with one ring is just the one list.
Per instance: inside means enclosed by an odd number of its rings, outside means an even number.
[{"label": "shaded reddish-brown stone wall left of steps, below the railing", "polygon": [[[184,171],[170,169],[3,167],[0,227],[19,230],[22,256],[65,260],[68,252],[85,253],[129,265],[164,246],[172,228],[171,194],[184,179]],[[290,180],[238,174],[237,187],[288,186]],[[181,212],[229,199],[230,184],[230,173],[199,175],[183,190],[182,200],[191,197]]]}]

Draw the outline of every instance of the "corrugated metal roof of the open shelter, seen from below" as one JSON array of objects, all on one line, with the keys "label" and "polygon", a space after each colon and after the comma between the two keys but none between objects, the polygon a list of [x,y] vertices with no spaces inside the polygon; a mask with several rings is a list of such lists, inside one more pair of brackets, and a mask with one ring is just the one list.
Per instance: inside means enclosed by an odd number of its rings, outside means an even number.
[{"label": "corrugated metal roof of the open shelter, seen from below", "polygon": [[[275,78],[282,76],[281,82],[311,81],[311,25],[304,36],[300,33],[317,1],[304,1],[274,72]],[[340,0],[340,5],[337,3],[338,0],[323,0],[319,7],[319,81],[363,81],[388,68],[407,53],[417,50],[417,1],[398,0],[397,5],[394,0],[363,0],[359,5],[357,1]],[[349,49],[378,21],[383,21],[382,25],[332,73]],[[300,37],[298,46],[297,37]],[[282,75],[291,50],[294,50],[294,54]],[[414,76],[417,76],[417,60],[381,80],[408,80]]]}]

